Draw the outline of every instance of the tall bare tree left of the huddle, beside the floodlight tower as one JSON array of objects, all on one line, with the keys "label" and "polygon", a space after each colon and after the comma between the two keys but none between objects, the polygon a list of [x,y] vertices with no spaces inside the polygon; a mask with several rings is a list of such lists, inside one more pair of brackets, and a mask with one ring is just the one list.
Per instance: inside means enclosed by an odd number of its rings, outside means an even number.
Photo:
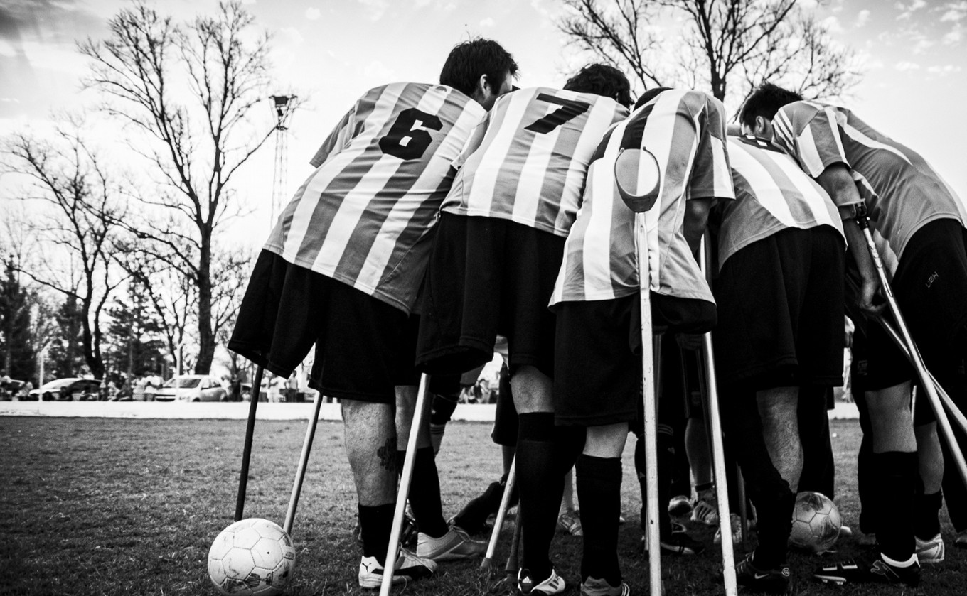
[{"label": "tall bare tree left of the huddle, beside the floodlight tower", "polygon": [[137,197],[150,216],[127,226],[146,254],[194,286],[195,372],[207,373],[217,326],[216,232],[238,213],[233,176],[273,130],[268,118],[252,121],[256,103],[269,95],[268,36],[250,35],[252,16],[239,2],[188,23],[135,4],[109,28],[107,40],[79,45],[92,61],[86,86],[102,92],[103,110],[137,133],[131,147],[151,166],[159,187]]}]

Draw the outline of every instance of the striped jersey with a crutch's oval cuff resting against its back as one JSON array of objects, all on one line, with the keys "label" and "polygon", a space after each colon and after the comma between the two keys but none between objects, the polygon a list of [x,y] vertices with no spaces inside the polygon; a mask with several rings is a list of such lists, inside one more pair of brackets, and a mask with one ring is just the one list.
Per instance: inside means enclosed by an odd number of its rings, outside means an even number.
[{"label": "striped jersey with a crutch's oval cuff resting against its back", "polygon": [[683,233],[686,201],[734,199],[725,149],[724,108],[697,91],[660,93],[601,139],[583,202],[565,241],[551,304],[621,298],[638,292],[634,213],[615,185],[622,149],[648,149],[661,170],[659,200],[645,213],[652,292],[715,303]]}]

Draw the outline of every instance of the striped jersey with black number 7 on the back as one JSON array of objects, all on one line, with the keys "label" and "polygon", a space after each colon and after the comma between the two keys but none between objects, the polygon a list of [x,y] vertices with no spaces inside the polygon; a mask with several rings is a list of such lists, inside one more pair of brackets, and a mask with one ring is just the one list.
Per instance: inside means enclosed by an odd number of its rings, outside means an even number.
[{"label": "striped jersey with black number 7 on the back", "polygon": [[614,99],[589,93],[536,87],[497,99],[459,159],[442,211],[567,236],[601,135],[627,117]]}]

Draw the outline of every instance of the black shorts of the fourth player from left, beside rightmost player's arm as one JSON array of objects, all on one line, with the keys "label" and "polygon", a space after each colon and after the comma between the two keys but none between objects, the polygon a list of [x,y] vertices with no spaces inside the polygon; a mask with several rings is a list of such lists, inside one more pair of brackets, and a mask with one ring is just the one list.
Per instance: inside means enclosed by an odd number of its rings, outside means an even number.
[{"label": "black shorts of the fourth player from left, beside rightmost player's arm", "polygon": [[842,237],[790,228],[729,257],[716,286],[719,383],[842,384]]}]

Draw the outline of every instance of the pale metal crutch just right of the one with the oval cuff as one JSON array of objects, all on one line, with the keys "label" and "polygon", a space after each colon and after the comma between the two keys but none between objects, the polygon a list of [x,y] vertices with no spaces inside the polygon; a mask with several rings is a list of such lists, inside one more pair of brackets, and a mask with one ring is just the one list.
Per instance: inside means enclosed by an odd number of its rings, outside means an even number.
[{"label": "pale metal crutch just right of the one with the oval cuff", "polygon": [[[708,250],[710,249],[708,233],[702,238],[702,246],[698,250],[698,264],[706,277],[710,276],[708,266]],[[725,446],[722,442],[721,417],[718,412],[718,383],[716,382],[716,361],[712,349],[712,332],[704,336],[705,373],[709,389],[709,427],[712,435],[712,464],[716,475],[716,497],[718,498],[718,531],[722,537],[722,579],[725,583],[725,593],[732,596],[737,593],[738,584],[735,577],[735,550],[732,545],[732,520],[729,515],[728,484],[725,480]]]}]

